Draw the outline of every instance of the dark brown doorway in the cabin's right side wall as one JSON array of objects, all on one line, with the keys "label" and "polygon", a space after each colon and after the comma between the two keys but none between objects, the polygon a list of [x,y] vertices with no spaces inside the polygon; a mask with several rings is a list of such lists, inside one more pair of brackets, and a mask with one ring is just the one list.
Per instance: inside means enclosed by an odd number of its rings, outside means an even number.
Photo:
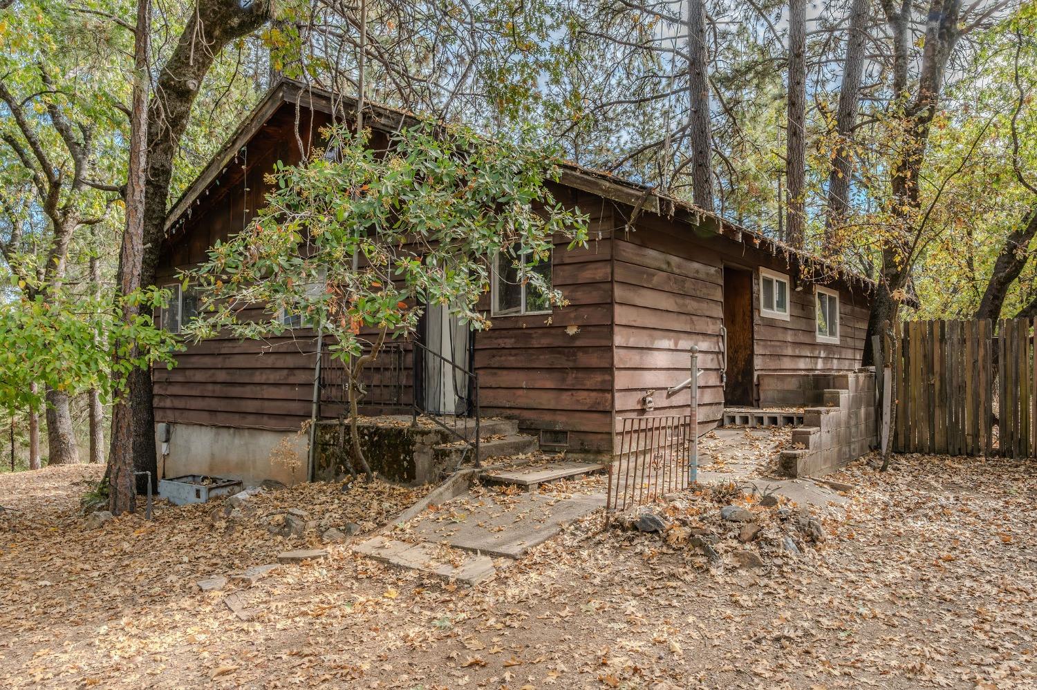
[{"label": "dark brown doorway in the cabin's right side wall", "polygon": [[753,274],[724,266],[727,383],[724,404],[753,405]]}]

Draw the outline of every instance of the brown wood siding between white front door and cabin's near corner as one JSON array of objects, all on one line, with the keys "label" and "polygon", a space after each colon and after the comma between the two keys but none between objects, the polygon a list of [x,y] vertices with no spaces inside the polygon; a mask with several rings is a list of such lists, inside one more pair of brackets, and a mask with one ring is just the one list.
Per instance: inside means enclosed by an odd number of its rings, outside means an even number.
[{"label": "brown wood siding between white front door and cabin's near corner", "polygon": [[479,406],[483,416],[517,419],[528,433],[568,431],[572,451],[609,451],[613,217],[588,194],[576,201],[590,212],[591,240],[571,251],[556,241],[552,269],[569,304],[551,314],[491,316],[492,327],[475,335]]}]

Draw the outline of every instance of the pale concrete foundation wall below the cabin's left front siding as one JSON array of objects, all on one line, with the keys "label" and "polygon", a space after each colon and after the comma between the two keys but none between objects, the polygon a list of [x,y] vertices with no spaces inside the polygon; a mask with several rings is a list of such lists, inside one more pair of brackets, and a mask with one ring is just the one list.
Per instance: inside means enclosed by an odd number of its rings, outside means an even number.
[{"label": "pale concrete foundation wall below the cabin's left front siding", "polygon": [[156,433],[160,477],[211,475],[240,479],[246,486],[257,486],[263,480],[285,485],[306,481],[306,434],[198,424],[170,426],[167,455],[163,455]]}]

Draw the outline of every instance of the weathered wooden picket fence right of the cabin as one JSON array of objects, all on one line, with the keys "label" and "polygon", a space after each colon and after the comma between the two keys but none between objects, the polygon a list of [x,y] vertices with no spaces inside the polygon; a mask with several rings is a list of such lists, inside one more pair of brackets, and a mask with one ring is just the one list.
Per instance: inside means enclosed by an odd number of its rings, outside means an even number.
[{"label": "weathered wooden picket fence right of the cabin", "polygon": [[891,353],[893,450],[969,456],[1037,455],[1037,369],[1029,319],[908,321]]}]

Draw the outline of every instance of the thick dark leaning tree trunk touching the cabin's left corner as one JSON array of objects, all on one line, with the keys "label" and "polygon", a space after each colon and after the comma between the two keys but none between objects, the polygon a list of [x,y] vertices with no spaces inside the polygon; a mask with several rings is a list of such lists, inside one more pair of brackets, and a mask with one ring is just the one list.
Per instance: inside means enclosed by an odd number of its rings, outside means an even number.
[{"label": "thick dark leaning tree trunk touching the cabin's left corner", "polygon": [[[202,80],[223,48],[246,36],[270,19],[271,0],[241,3],[237,0],[198,0],[176,48],[159,73],[156,97],[148,107],[147,175],[144,186],[144,255],[137,283],[155,284],[166,221],[169,183],[173,159],[187,128],[191,108]],[[120,275],[120,281],[121,281]],[[125,425],[120,433],[132,436],[112,438],[116,443],[133,445],[135,467],[139,471],[158,473],[155,448],[155,411],[151,408],[151,372],[136,370],[128,378],[125,400],[133,408],[132,429]],[[113,436],[115,425],[113,423]],[[132,438],[132,441],[131,441]],[[145,480],[139,480],[143,483]]]}]

